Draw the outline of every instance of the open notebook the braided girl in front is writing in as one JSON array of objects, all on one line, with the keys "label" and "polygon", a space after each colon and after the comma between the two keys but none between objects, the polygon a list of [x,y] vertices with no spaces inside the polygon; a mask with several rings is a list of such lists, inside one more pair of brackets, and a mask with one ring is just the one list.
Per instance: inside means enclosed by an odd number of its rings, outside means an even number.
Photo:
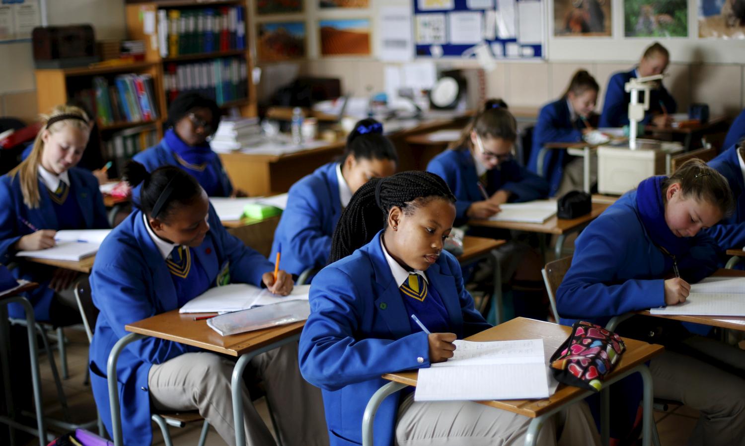
[{"label": "open notebook the braided girl in front is writing in", "polygon": [[543,340],[456,340],[450,360],[419,369],[414,401],[548,398],[548,373]]}]

